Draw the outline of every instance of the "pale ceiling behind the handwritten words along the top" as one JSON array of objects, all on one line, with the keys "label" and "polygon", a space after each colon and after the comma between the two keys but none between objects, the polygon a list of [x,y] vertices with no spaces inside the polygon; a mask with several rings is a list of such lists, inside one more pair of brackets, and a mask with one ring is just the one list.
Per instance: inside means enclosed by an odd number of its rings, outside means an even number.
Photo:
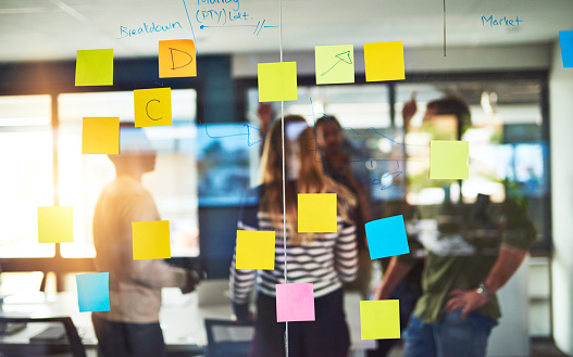
[{"label": "pale ceiling behind the handwritten words along the top", "polygon": [[[267,26],[279,25],[281,7],[285,51],[444,41],[441,0],[0,0],[0,61],[72,60],[76,50],[100,48],[113,48],[115,58],[155,56],[159,40],[194,37],[199,54],[278,52],[278,27]],[[446,0],[446,7],[448,47],[551,42],[559,30],[573,29],[572,0]],[[217,24],[223,9],[239,9],[241,17]],[[198,11],[203,25],[222,27],[200,28]],[[520,25],[484,26],[482,16],[490,15],[519,17]],[[148,30],[152,23],[173,26],[145,33],[144,23]],[[139,27],[142,34],[121,38]]]}]

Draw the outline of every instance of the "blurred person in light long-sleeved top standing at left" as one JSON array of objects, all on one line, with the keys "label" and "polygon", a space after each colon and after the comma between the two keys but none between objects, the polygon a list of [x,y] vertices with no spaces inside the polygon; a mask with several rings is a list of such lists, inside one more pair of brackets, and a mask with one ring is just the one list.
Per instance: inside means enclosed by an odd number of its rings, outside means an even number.
[{"label": "blurred person in light long-sleeved top standing at left", "polygon": [[195,289],[198,279],[161,259],[133,258],[132,222],[160,220],[153,197],[141,177],[155,168],[155,152],[141,128],[121,125],[121,153],[109,155],[115,180],[98,200],[94,213],[96,267],[110,272],[110,311],[91,319],[102,357],[166,356],[159,324],[161,289]]}]

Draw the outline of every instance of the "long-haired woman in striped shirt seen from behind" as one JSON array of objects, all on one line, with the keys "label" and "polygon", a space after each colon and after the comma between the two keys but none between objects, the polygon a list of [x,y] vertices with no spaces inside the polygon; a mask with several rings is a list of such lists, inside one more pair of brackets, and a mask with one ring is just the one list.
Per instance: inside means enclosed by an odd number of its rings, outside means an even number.
[{"label": "long-haired woman in striped shirt seen from behind", "polygon": [[[304,118],[289,115],[285,120],[285,195],[283,214],[283,136],[281,120],[270,130],[261,158],[262,184],[249,196],[256,202],[244,205],[239,230],[273,230],[276,233],[275,269],[236,269],[231,264],[231,299],[237,320],[251,319],[249,295],[257,277],[256,332],[250,357],[285,356],[285,323],[276,320],[275,285],[313,283],[315,321],[288,324],[289,357],[346,357],[350,346],[342,303],[342,282],[356,279],[358,270],[356,197],[345,187],[323,174],[315,157],[314,135]],[[298,193],[337,194],[337,232],[300,233],[297,230]],[[283,219],[286,216],[286,246]]]}]

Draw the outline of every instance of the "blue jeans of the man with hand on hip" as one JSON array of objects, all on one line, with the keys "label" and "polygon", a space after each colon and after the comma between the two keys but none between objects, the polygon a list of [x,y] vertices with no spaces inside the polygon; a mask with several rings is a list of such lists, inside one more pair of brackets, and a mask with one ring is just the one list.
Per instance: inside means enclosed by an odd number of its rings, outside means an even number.
[{"label": "blue jeans of the man with hand on hip", "polygon": [[434,323],[412,315],[406,330],[403,357],[484,357],[497,320],[477,313],[461,319],[461,309]]}]

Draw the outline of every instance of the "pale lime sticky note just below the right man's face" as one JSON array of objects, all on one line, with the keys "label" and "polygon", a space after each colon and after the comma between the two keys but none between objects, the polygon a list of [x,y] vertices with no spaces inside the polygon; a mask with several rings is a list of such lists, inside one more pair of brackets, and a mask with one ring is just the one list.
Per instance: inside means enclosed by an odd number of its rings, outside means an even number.
[{"label": "pale lime sticky note just below the right man's face", "polygon": [[431,140],[429,178],[463,180],[470,176],[468,141]]}]

